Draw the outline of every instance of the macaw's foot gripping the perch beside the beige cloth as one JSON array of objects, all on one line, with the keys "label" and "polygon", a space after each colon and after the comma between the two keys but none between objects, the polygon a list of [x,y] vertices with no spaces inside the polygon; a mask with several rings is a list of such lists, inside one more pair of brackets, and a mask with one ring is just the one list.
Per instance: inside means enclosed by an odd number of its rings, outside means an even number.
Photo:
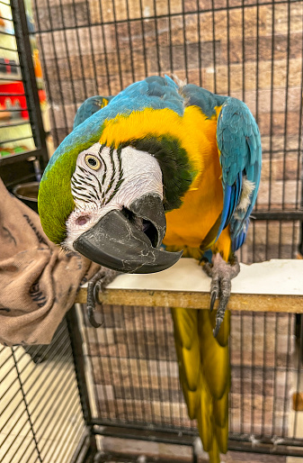
[{"label": "macaw's foot gripping the perch beside the beige cloth", "polygon": [[116,270],[110,268],[101,267],[100,270],[94,275],[93,278],[87,283],[87,299],[86,299],[86,311],[87,318],[94,328],[99,328],[102,323],[96,322],[94,318],[94,310],[96,304],[102,305],[99,300],[99,291],[103,291],[105,286],[109,285],[112,280],[119,275]]}]

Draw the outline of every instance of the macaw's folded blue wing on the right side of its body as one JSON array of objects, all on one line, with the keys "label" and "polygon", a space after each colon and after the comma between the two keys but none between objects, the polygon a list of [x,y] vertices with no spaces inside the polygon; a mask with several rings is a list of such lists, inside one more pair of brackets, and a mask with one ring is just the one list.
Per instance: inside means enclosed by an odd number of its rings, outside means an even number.
[{"label": "macaw's folded blue wing on the right side of its body", "polygon": [[[227,98],[218,115],[217,143],[222,167],[224,192],[220,232],[230,223],[232,250],[245,241],[249,215],[253,210],[261,176],[261,138],[257,124],[247,106],[236,98]],[[249,204],[239,208],[243,179],[254,183]],[[233,191],[233,200],[226,196]],[[228,211],[226,210],[228,209]]]}]

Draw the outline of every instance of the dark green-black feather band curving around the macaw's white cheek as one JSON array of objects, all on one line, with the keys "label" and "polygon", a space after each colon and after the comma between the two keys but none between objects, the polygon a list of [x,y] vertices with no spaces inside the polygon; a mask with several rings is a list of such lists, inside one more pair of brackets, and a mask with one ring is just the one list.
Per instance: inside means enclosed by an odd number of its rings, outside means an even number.
[{"label": "dark green-black feather band curving around the macaw's white cheek", "polygon": [[162,170],[165,211],[180,207],[183,195],[192,185],[196,174],[180,142],[169,136],[151,136],[142,140],[127,141],[123,143],[122,147],[124,146],[146,151],[156,158]]}]

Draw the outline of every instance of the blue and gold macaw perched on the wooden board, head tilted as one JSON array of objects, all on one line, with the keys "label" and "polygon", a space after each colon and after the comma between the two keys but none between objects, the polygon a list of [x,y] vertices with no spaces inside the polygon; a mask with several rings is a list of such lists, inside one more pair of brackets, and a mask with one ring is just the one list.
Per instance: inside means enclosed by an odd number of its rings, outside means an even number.
[{"label": "blue and gold macaw perched on the wooden board, head tilted", "polygon": [[182,252],[199,259],[211,277],[210,311],[172,309],[174,339],[189,416],[217,463],[228,434],[225,310],[260,182],[258,127],[236,98],[169,77],[92,101],[44,172],[43,229],[63,248],[122,272],[160,271]]}]

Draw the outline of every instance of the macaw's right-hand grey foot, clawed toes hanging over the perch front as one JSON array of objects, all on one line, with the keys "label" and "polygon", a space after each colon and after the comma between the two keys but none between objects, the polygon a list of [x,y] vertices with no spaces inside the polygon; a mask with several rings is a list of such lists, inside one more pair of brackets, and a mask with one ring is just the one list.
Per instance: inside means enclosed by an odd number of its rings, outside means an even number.
[{"label": "macaw's right-hand grey foot, clawed toes hanging over the perch front", "polygon": [[231,290],[231,279],[235,278],[239,271],[240,266],[236,259],[233,257],[231,263],[222,259],[221,255],[217,253],[211,259],[211,263],[207,262],[203,265],[205,273],[211,277],[210,284],[210,312],[214,308],[216,299],[219,297],[218,311],[216,314],[216,326],[213,331],[214,337],[218,335],[218,330],[224,319],[224,314],[227,309],[227,303]]}]

